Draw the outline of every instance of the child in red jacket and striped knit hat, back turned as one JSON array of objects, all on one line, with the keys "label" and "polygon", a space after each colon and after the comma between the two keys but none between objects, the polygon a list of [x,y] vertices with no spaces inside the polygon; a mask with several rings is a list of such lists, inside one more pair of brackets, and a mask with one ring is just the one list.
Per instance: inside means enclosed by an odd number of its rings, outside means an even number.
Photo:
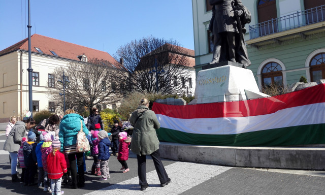
[{"label": "child in red jacket and striped knit hat, back turned", "polygon": [[[60,147],[60,141],[55,138],[52,141],[52,152],[47,156],[47,174],[51,179],[52,195],[64,193],[61,191],[61,182],[63,173],[67,173],[67,163],[64,155],[60,152]],[[54,186],[56,186],[55,189]]]}]

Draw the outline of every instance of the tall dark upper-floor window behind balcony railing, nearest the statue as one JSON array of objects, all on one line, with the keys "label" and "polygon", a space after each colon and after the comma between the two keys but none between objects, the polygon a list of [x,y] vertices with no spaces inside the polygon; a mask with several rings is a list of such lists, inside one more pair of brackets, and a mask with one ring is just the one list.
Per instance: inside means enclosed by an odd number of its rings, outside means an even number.
[{"label": "tall dark upper-floor window behind balcony railing, nearest the statue", "polygon": [[269,35],[278,31],[276,20],[273,20],[277,18],[275,0],[259,0],[257,3],[257,16],[260,35]]}]

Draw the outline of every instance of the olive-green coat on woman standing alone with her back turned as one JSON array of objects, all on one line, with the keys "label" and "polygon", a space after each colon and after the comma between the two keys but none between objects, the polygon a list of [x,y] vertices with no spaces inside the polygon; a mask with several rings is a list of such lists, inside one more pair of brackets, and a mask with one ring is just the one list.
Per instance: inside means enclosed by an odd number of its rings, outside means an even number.
[{"label": "olive-green coat on woman standing alone with her back turned", "polygon": [[148,155],[159,149],[155,129],[160,127],[160,123],[153,111],[146,106],[139,106],[132,113],[129,121],[134,126],[130,145],[132,152],[138,155]]}]

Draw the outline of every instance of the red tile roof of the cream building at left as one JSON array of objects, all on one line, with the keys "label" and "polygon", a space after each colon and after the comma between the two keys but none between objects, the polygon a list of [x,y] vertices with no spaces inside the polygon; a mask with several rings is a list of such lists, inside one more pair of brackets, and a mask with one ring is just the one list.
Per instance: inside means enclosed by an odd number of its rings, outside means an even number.
[{"label": "red tile roof of the cream building at left", "polygon": [[[36,48],[40,48],[44,54],[54,56],[51,51],[54,51],[59,57],[68,58],[72,60],[80,59],[77,56],[85,54],[88,60],[92,58],[98,58],[100,60],[109,61],[112,64],[119,64],[109,53],[96,49],[91,49],[81,45],[60,41],[50,37],[34,34],[30,37],[31,39],[31,52],[39,53]],[[0,51],[0,55],[15,51],[17,49],[28,50],[28,38]],[[119,64],[120,66],[120,64]]]}]

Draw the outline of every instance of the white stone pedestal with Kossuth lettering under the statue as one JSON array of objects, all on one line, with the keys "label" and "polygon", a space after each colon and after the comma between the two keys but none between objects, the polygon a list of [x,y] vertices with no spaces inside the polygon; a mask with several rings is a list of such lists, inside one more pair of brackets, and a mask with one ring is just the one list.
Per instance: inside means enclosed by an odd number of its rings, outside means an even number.
[{"label": "white stone pedestal with Kossuth lettering under the statue", "polygon": [[230,65],[199,71],[196,83],[195,99],[190,104],[239,101],[268,96],[259,92],[251,70]]}]

